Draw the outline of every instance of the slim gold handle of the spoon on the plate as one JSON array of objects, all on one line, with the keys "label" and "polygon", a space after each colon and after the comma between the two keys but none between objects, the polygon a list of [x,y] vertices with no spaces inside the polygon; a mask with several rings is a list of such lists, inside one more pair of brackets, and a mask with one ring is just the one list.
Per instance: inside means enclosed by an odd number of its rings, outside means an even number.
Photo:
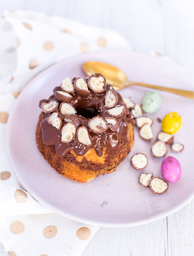
[{"label": "slim gold handle of the spoon on the plate", "polygon": [[149,87],[149,88],[153,88],[153,89],[157,89],[157,90],[166,91],[169,93],[175,93],[175,94],[193,99],[192,91],[179,90],[179,89],[174,89],[174,88],[168,88],[168,87],[156,86],[156,85],[151,85],[151,84],[147,84],[147,83],[138,83],[138,82],[129,82],[129,85],[139,85],[139,86]]}]

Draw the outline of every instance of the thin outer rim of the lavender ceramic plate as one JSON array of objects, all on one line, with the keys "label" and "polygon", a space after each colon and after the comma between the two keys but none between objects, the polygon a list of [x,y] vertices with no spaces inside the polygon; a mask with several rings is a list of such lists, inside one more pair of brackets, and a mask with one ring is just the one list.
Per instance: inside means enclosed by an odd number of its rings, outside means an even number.
[{"label": "thin outer rim of the lavender ceramic plate", "polygon": [[[35,77],[33,77],[25,86],[25,88],[23,88],[23,90],[21,91],[18,99],[20,99],[20,97],[22,97],[22,95],[25,93],[26,90],[28,90],[28,87],[31,86],[32,83],[34,83],[34,80],[36,79],[39,79],[39,77],[43,76],[45,73],[49,72],[50,70],[52,70],[54,67],[57,67],[57,65],[61,65],[61,63],[63,62],[67,62],[69,61],[70,59],[73,59],[73,58],[76,58],[78,56],[83,56],[83,55],[92,55],[93,53],[96,53],[96,52],[105,52],[105,51],[117,51],[117,52],[124,52],[124,51],[127,51],[127,52],[133,52],[134,54],[139,54],[140,56],[144,56],[144,57],[148,57],[148,58],[154,58],[154,59],[157,59],[156,57],[157,56],[153,56],[153,55],[149,55],[149,54],[144,54],[144,53],[140,53],[140,52],[135,52],[135,51],[131,51],[131,50],[125,50],[125,49],[122,49],[122,50],[113,50],[113,49],[110,49],[110,50],[101,50],[101,51],[91,51],[91,52],[87,52],[87,53],[84,53],[84,54],[78,54],[78,55],[75,55],[75,56],[71,56],[65,60],[62,60],[60,62],[57,62],[57,63],[54,63],[53,65],[50,65],[49,67],[45,68],[44,70],[42,70],[41,72],[39,72]],[[168,62],[166,59],[162,59],[160,58],[160,61],[162,62]],[[179,65],[177,65],[176,63],[173,63],[171,62],[172,65],[176,66],[176,68],[180,68]],[[184,72],[184,70],[181,68],[181,72],[186,76],[186,73]],[[190,81],[188,80],[187,81],[188,84],[190,85]],[[13,109],[14,107],[16,106],[17,102],[19,101],[15,101],[14,103],[14,106],[13,106]],[[80,223],[84,223],[84,224],[88,224],[88,225],[95,225],[95,226],[101,226],[101,227],[132,227],[132,226],[138,226],[138,225],[143,225],[143,224],[146,224],[146,223],[151,223],[153,221],[157,221],[161,218],[165,218],[166,216],[169,216],[170,214],[173,214],[175,213],[176,211],[179,211],[180,209],[182,209],[185,205],[187,205],[189,202],[191,202],[191,200],[194,199],[194,191],[193,193],[191,193],[191,195],[189,195],[186,200],[184,200],[184,202],[180,203],[179,205],[169,209],[169,210],[166,210],[160,214],[157,214],[153,217],[149,217],[149,218],[144,218],[140,221],[133,221],[133,222],[128,222],[128,223],[111,223],[111,222],[100,222],[100,221],[88,221],[87,218],[83,218],[83,217],[78,217],[74,214],[69,214],[69,213],[65,213],[64,214],[64,211],[62,210],[59,210],[57,209],[56,211],[56,208],[53,207],[52,205],[48,204],[47,202],[45,202],[44,200],[40,199],[37,195],[34,196],[34,192],[31,191],[29,188],[27,188],[25,186],[25,183],[20,179],[19,175],[17,174],[17,171],[15,172],[15,169],[14,169],[14,163],[12,162],[12,157],[11,157],[11,152],[8,150],[9,149],[9,131],[11,130],[11,120],[12,120],[12,116],[14,115],[13,114],[13,109],[10,113],[10,116],[8,118],[8,123],[7,123],[7,130],[6,130],[6,147],[7,147],[7,153],[8,153],[8,157],[9,157],[9,161],[10,161],[10,164],[11,164],[11,167],[12,167],[12,170],[14,172],[14,175],[17,177],[19,183],[23,186],[23,188],[35,199],[37,200],[39,203],[41,203],[43,206],[47,207],[48,209],[56,212],[57,214],[60,214],[66,218],[69,218],[69,219],[72,219],[74,221],[78,221]]]}]

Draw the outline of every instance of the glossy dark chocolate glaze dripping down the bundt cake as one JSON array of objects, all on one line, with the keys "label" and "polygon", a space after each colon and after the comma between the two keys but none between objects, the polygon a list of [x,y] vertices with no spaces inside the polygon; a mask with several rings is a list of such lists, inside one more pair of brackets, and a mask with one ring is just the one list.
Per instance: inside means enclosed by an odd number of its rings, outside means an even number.
[{"label": "glossy dark chocolate glaze dripping down the bundt cake", "polygon": [[[74,80],[75,79],[73,79],[73,82]],[[85,81],[87,82],[87,79]],[[86,109],[86,108],[93,108],[98,113],[96,115],[99,115],[105,118],[105,116],[108,116],[108,114],[106,113],[106,110],[109,109],[105,107],[105,94],[109,89],[112,89],[112,87],[110,85],[107,85],[106,90],[103,93],[94,93],[91,91],[88,96],[80,96],[76,92],[73,92],[71,93],[73,98],[71,99],[69,104],[74,106],[77,109],[77,111],[78,109],[80,110],[80,109]],[[61,91],[61,88],[55,87],[53,92],[55,91]],[[117,94],[118,94],[118,105],[120,106],[125,105],[121,95],[119,93]],[[53,99],[57,100],[54,94],[51,95],[48,100],[47,99],[41,100],[39,102],[39,107],[41,106],[42,102],[50,102]],[[59,111],[59,106],[55,112],[58,112],[58,117],[62,119],[62,122],[64,124],[63,118],[65,117],[65,115],[63,115]],[[91,137],[91,145],[86,146],[81,144],[77,138],[75,138],[73,141],[69,143],[61,142],[61,131],[56,129],[54,126],[50,125],[47,122],[47,117],[50,115],[51,113],[45,113],[44,119],[41,122],[43,141],[46,145],[55,145],[55,150],[58,157],[64,157],[65,154],[67,154],[70,150],[73,150],[75,154],[78,156],[83,156],[91,148],[95,149],[96,154],[99,157],[101,157],[103,155],[102,153],[103,147],[108,149],[115,149],[120,145],[122,134],[126,134],[127,132],[128,122],[133,122],[133,118],[131,118],[131,114],[129,113],[129,110],[126,108],[125,113],[121,117],[117,118],[119,122],[119,128],[116,131],[111,131],[111,129],[109,128],[103,134],[94,134],[88,127],[88,120],[89,120],[88,118],[85,118],[82,115],[79,115],[79,112],[75,115],[69,115],[69,117],[75,122],[77,128],[80,126],[85,126],[89,130],[89,134]]]}]

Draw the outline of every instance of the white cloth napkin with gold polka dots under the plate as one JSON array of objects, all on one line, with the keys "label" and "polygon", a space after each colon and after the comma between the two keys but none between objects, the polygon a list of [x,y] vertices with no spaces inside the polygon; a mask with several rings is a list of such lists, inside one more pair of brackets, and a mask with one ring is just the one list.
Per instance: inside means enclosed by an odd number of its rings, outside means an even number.
[{"label": "white cloth napkin with gold polka dots under the plate", "polygon": [[114,31],[57,16],[5,11],[0,18],[1,241],[11,256],[80,255],[98,227],[45,208],[17,181],[6,152],[6,123],[26,84],[46,67],[99,49],[130,49]]}]

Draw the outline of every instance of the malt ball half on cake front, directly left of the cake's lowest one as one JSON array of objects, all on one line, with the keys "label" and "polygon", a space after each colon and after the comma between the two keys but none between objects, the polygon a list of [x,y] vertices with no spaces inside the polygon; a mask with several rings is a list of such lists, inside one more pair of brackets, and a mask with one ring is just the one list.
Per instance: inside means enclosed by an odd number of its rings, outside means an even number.
[{"label": "malt ball half on cake front, directly left of the cake's lowest one", "polygon": [[68,143],[76,136],[76,125],[73,122],[68,122],[61,129],[61,142]]}]

